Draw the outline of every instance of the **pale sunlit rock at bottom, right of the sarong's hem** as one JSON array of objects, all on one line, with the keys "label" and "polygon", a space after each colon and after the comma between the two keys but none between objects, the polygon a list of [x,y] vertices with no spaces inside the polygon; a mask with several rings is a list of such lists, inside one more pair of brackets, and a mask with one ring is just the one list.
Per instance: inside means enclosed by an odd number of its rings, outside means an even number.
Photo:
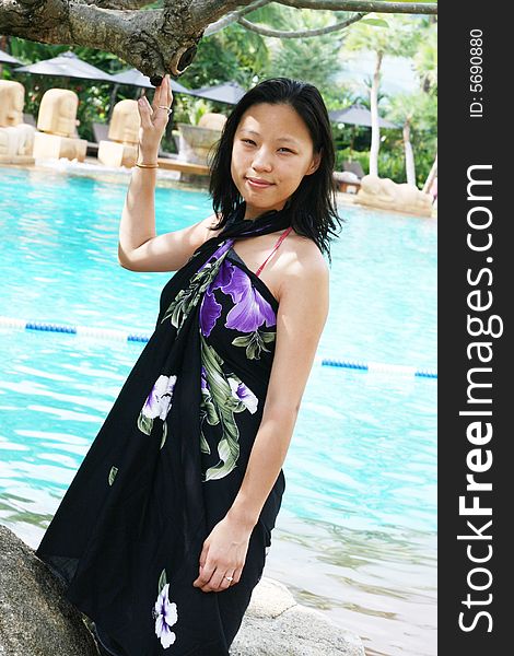
[{"label": "pale sunlit rock at bottom, right of the sarong's hem", "polygon": [[288,588],[262,577],[254,589],[231,656],[364,656],[361,639],[296,604]]}]

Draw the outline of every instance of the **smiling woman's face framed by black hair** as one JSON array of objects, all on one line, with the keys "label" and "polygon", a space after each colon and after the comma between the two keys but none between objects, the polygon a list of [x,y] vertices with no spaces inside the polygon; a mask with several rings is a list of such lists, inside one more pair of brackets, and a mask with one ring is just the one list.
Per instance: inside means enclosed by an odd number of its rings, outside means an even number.
[{"label": "smiling woman's face framed by black hair", "polygon": [[303,177],[316,171],[319,159],[293,107],[249,107],[237,126],[231,163],[232,179],[246,200],[245,219],[281,210]]}]

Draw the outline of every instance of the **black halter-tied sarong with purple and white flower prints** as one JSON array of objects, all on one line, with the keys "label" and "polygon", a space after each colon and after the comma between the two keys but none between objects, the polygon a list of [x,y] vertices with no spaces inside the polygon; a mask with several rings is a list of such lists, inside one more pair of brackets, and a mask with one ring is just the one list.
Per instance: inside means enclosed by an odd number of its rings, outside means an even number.
[{"label": "black halter-tied sarong with purple and white flower prints", "polygon": [[226,656],[271,544],[282,470],[240,583],[192,586],[241,488],[274,352],[278,302],[231,246],[291,216],[243,215],[164,286],[155,330],[36,551],[116,656]]}]

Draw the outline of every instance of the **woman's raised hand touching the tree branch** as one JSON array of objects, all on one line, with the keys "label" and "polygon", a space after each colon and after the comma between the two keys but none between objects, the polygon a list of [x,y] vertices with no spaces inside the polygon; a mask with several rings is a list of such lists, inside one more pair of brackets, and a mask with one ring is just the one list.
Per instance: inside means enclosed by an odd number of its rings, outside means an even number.
[{"label": "woman's raised hand touching the tree branch", "polygon": [[149,103],[147,96],[142,96],[138,101],[139,150],[145,160],[153,157],[155,161],[157,159],[159,145],[170,119],[172,103],[170,75],[165,75],[160,86],[155,87],[152,104]]}]

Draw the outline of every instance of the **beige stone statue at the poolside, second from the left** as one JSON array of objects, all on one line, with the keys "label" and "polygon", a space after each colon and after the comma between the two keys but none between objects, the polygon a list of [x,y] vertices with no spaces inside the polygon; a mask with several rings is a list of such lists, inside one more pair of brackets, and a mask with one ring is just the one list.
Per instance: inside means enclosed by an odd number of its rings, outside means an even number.
[{"label": "beige stone statue at the poolside, second from the left", "polygon": [[77,137],[79,96],[69,89],[49,89],[43,95],[34,139],[34,157],[83,162],[87,141]]}]

